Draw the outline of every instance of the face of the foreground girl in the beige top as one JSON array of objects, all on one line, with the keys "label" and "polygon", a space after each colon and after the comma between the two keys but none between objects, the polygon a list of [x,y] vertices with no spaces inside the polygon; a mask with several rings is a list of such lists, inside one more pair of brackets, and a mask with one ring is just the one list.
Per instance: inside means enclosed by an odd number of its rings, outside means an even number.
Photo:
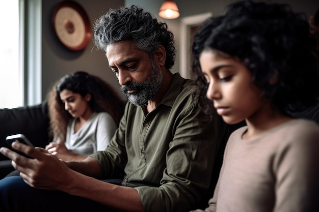
[{"label": "face of the foreground girl in the beige top", "polygon": [[207,98],[228,124],[253,116],[262,107],[260,89],[240,60],[215,50],[204,50],[199,57],[201,70],[209,83]]}]

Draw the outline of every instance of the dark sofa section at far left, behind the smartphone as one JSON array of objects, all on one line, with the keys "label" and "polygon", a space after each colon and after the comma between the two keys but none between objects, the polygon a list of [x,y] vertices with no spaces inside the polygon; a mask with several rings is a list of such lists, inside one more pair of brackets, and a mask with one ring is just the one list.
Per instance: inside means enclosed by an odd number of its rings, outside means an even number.
[{"label": "dark sofa section at far left, behind the smartphone", "polygon": [[[8,147],[6,137],[13,134],[24,134],[34,146],[45,147],[50,141],[48,135],[49,117],[47,103],[0,109],[0,146]],[[11,161],[0,154],[0,179],[13,171]]]}]

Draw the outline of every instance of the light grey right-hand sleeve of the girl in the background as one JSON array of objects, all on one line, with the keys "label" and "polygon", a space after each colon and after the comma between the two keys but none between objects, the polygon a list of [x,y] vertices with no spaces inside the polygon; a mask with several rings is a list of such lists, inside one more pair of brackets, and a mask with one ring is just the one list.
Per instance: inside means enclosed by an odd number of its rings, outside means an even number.
[{"label": "light grey right-hand sleeve of the girl in the background", "polygon": [[114,133],[116,131],[116,124],[109,113],[101,112],[98,114],[98,122],[96,126],[96,150],[105,150]]}]

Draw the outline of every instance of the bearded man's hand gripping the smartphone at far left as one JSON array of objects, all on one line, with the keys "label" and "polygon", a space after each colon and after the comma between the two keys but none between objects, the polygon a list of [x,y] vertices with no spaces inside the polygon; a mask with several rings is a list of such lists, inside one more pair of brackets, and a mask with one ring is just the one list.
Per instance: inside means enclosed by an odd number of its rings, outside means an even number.
[{"label": "bearded man's hand gripping the smartphone at far left", "polygon": [[12,160],[12,166],[20,172],[26,184],[39,189],[63,190],[72,180],[72,170],[65,162],[49,154],[43,148],[33,148],[19,142],[13,142],[12,147],[33,159],[29,159],[2,147],[0,152]]}]

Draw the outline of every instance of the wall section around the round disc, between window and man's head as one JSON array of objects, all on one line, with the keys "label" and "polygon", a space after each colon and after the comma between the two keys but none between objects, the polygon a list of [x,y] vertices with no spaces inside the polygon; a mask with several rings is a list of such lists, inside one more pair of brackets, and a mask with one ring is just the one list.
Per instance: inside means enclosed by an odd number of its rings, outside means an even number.
[{"label": "wall section around the round disc, between window and man's head", "polygon": [[[123,0],[74,0],[89,16],[91,25],[109,8],[124,5]],[[42,0],[42,100],[52,84],[66,74],[87,71],[108,81],[120,93],[116,76],[110,71],[107,58],[101,50],[96,50],[91,39],[81,51],[71,51],[58,40],[53,26],[52,13],[61,0]],[[93,37],[93,36],[92,36]],[[124,96],[123,96],[124,98]]]}]

